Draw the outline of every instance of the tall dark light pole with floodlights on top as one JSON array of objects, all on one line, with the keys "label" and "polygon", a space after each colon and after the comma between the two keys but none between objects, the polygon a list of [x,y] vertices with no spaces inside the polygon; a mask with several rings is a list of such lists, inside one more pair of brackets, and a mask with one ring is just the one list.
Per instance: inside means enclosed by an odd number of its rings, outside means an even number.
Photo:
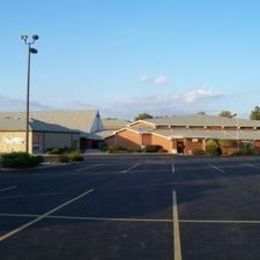
[{"label": "tall dark light pole with floodlights on top", "polygon": [[26,91],[26,137],[25,137],[25,152],[29,153],[29,120],[30,120],[30,73],[31,73],[31,53],[36,54],[38,51],[31,46],[39,40],[39,36],[34,34],[31,37],[28,35],[21,36],[22,41],[28,45],[28,67],[27,67],[27,91]]}]

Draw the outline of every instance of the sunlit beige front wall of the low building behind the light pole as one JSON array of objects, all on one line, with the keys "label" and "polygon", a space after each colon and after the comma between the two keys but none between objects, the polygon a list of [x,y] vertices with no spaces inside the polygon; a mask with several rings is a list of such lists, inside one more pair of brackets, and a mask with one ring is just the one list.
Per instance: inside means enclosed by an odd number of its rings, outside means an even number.
[{"label": "sunlit beige front wall of the low building behind the light pole", "polygon": [[[25,152],[25,132],[0,132],[0,153]],[[32,152],[32,133],[29,133],[29,152]]]}]

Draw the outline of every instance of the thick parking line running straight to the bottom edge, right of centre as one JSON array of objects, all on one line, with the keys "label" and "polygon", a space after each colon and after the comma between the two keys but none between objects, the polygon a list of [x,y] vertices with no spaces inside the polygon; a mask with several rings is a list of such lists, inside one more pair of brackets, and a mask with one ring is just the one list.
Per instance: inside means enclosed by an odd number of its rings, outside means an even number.
[{"label": "thick parking line running straight to the bottom edge, right of centre", "polygon": [[180,227],[178,217],[178,205],[176,191],[172,191],[172,218],[173,218],[173,259],[181,260],[181,239],[180,239]]}]

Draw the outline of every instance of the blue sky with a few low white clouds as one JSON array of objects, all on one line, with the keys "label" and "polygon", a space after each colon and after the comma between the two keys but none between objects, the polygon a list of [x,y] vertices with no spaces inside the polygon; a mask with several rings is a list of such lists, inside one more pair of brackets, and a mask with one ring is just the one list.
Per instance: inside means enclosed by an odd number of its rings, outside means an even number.
[{"label": "blue sky with a few low white clouds", "polygon": [[259,0],[1,0],[0,111],[248,117],[260,100]]}]

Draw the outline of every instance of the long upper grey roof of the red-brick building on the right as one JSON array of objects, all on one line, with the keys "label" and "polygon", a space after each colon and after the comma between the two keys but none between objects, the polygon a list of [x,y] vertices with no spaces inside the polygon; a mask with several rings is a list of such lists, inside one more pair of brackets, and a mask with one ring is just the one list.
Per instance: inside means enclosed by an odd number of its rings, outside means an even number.
[{"label": "long upper grey roof of the red-brick building on the right", "polygon": [[260,121],[249,119],[236,119],[211,115],[188,115],[173,116],[165,118],[145,119],[155,126],[238,126],[239,127],[260,127]]}]

